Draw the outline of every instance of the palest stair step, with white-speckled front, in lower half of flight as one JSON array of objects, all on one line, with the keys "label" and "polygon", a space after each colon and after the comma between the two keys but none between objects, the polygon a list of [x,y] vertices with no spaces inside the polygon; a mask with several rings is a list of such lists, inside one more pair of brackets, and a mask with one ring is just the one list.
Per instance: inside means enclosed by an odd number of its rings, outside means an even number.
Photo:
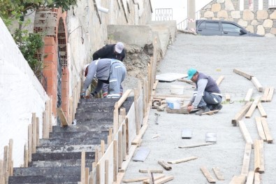
[{"label": "palest stair step, with white-speckled front, in lower half of flight", "polygon": [[36,153],[72,153],[72,152],[93,152],[99,145],[71,145],[71,146],[38,146]]}]

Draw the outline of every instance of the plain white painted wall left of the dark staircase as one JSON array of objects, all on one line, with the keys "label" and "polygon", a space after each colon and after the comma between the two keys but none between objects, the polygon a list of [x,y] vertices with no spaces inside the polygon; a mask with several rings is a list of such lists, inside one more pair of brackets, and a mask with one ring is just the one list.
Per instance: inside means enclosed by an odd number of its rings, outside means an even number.
[{"label": "plain white painted wall left of the dark staircase", "polygon": [[48,95],[13,41],[0,18],[0,159],[3,148],[13,139],[13,164],[23,164],[31,113],[40,120]]}]

